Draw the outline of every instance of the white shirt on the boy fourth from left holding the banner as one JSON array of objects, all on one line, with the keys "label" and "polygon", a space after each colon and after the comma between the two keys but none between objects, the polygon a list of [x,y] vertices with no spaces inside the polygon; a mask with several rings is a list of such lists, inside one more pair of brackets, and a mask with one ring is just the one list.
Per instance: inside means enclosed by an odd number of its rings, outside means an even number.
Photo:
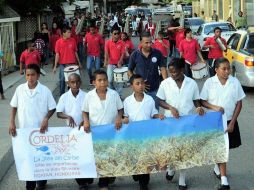
[{"label": "white shirt on the boy fourth from left holding the banner", "polygon": [[124,116],[128,117],[130,122],[148,120],[158,114],[153,98],[145,93],[141,102],[136,100],[134,93],[128,96],[123,102],[123,107]]}]

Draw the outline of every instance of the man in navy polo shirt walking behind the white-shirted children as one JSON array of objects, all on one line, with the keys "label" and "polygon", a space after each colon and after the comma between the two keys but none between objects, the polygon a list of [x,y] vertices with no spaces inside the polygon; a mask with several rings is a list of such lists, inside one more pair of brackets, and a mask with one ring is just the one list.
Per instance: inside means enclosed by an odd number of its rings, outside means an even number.
[{"label": "man in navy polo shirt walking behind the white-shirted children", "polygon": [[142,76],[146,83],[145,92],[153,97],[157,110],[159,101],[156,94],[161,82],[158,68],[161,70],[162,78],[166,79],[167,71],[163,56],[159,50],[152,48],[150,33],[143,33],[140,48],[130,56],[128,75],[131,77],[135,70],[136,74]]}]

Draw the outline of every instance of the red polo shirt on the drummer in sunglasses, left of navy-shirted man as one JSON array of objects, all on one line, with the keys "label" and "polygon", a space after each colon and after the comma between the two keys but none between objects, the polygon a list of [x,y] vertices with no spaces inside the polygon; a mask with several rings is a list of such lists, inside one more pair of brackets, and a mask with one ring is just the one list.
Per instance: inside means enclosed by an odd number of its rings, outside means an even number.
[{"label": "red polo shirt on the drummer in sunglasses, left of navy-shirted man", "polygon": [[109,64],[116,65],[122,54],[125,53],[125,45],[122,40],[113,42],[112,39],[107,40],[105,44],[105,52],[109,55]]}]

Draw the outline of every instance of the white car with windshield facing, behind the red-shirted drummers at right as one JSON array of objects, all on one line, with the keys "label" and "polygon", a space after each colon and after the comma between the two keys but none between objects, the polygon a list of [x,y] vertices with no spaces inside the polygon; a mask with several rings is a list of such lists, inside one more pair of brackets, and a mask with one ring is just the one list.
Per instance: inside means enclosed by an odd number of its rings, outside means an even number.
[{"label": "white car with windshield facing, behind the red-shirted drummers at right", "polygon": [[[222,30],[221,37],[226,41],[236,31],[235,27],[230,22],[209,22],[202,24],[196,33],[195,38],[198,40],[200,47],[202,48],[208,37],[214,36],[214,28],[219,27]],[[204,50],[208,51],[208,49]]]}]

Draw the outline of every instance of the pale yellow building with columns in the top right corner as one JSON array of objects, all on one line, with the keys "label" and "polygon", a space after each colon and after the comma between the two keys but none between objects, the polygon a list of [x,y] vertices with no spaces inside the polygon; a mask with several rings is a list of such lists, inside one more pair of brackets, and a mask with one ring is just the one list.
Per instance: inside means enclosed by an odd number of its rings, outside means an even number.
[{"label": "pale yellow building with columns in the top right corner", "polygon": [[193,1],[193,12],[198,14],[205,12],[207,21],[211,20],[213,10],[216,10],[219,20],[226,21],[231,17],[235,23],[239,11],[243,11],[247,16],[248,25],[253,25],[254,20],[254,0],[199,0]]}]

